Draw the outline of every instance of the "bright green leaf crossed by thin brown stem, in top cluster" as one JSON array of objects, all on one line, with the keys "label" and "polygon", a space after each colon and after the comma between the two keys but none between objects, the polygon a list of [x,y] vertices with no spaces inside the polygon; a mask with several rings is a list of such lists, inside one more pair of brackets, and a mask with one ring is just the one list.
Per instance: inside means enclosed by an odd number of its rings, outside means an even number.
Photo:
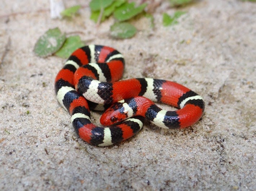
[{"label": "bright green leaf crossed by thin brown stem, in top cluster", "polygon": [[[122,5],[123,3],[125,3],[126,0],[116,0],[114,1],[113,4],[111,4],[110,6],[108,6],[107,8],[104,9],[103,14],[102,14],[102,19],[101,21],[104,21],[108,16],[110,16],[114,10],[119,7],[120,5]],[[93,20],[95,23],[98,21],[100,15],[100,11],[91,11],[91,16],[90,19]]]}]

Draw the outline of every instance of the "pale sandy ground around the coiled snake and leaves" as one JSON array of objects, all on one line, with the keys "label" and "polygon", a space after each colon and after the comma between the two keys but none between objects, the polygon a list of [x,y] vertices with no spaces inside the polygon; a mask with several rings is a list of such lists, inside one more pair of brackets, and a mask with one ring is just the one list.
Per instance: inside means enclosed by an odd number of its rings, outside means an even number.
[{"label": "pale sandy ground around the coiled snake and leaves", "polygon": [[[39,3],[40,2],[40,3]],[[67,6],[86,4],[69,1]],[[72,20],[52,20],[49,1],[4,0],[0,8],[0,190],[255,190],[256,3],[201,0],[184,8],[178,25],[109,36],[85,6]],[[17,14],[18,13],[18,14]],[[9,16],[4,16],[9,15]],[[64,59],[39,58],[36,40],[49,28],[79,32],[86,43],[117,48],[123,78],[179,82],[206,102],[202,119],[184,130],[146,123],[135,137],[111,147],[82,141],[58,104],[54,78]],[[169,106],[162,105],[167,109]],[[100,113],[92,113],[99,124]]]}]

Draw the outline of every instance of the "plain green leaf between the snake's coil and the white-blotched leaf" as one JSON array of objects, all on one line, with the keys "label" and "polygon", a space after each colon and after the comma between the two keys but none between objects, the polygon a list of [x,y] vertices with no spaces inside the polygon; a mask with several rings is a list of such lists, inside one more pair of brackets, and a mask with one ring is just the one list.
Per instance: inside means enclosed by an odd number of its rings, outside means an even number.
[{"label": "plain green leaf between the snake's coil and the white-blotched leaf", "polygon": [[68,58],[68,56],[74,52],[77,48],[85,46],[85,43],[81,41],[78,35],[68,37],[58,52],[55,55],[61,58]]}]

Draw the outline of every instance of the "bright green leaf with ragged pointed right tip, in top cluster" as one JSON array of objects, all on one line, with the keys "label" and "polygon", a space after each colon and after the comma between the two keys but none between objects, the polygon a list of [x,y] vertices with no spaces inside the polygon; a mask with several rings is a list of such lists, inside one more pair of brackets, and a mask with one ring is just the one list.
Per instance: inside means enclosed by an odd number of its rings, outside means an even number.
[{"label": "bright green leaf with ragged pointed right tip, in top cluster", "polygon": [[114,11],[114,17],[119,21],[128,20],[141,13],[146,6],[146,3],[143,3],[138,7],[135,7],[134,2],[125,3]]}]

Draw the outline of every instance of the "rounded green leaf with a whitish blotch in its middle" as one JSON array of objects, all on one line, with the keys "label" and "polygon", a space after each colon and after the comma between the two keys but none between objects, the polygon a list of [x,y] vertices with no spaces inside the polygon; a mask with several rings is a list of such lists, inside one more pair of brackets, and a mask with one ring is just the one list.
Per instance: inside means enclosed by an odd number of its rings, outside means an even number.
[{"label": "rounded green leaf with a whitish blotch in its middle", "polygon": [[58,27],[49,29],[37,40],[33,51],[40,57],[49,56],[62,47],[65,39],[66,35]]}]

